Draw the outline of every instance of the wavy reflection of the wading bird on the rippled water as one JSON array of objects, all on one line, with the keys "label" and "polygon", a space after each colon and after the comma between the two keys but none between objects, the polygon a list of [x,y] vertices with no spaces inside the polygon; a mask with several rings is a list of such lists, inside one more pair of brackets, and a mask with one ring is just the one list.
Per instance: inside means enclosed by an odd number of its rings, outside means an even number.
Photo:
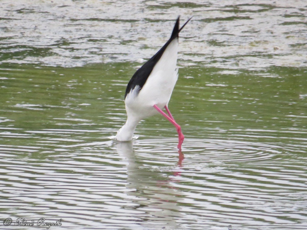
[{"label": "wavy reflection of the wading bird on the rippled water", "polygon": [[[155,167],[148,167],[148,161],[142,162],[135,156],[132,142],[116,143],[119,155],[127,162],[126,192],[135,205],[126,209],[139,211],[140,224],[161,224],[177,228],[176,219],[182,217],[177,202],[181,199],[180,192],[174,189],[173,183],[180,175],[180,167],[184,155],[179,151],[178,171],[171,178]],[[140,157],[141,158],[141,157]],[[154,159],[154,156],[153,156]],[[151,163],[154,160],[151,159]],[[147,165],[147,166],[146,166]]]}]

